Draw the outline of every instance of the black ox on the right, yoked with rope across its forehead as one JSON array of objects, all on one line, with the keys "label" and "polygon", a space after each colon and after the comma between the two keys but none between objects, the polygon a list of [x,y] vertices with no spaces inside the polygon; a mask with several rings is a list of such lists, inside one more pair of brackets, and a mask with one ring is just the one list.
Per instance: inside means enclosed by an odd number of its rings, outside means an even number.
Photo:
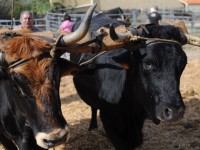
[{"label": "black ox on the right, yoked with rope across its forehead", "polygon": [[[114,26],[122,24],[100,14],[93,17],[89,30],[113,22]],[[97,127],[95,117],[99,109],[104,129],[117,150],[134,149],[142,144],[145,119],[159,124],[177,120],[185,111],[179,85],[187,63],[182,49],[186,37],[169,25],[145,25],[130,30],[149,40],[130,42],[124,48],[107,52],[73,78],[78,94],[92,107],[90,129]],[[118,39],[117,34],[112,36]],[[72,55],[71,61],[80,58],[81,63],[93,55]]]}]

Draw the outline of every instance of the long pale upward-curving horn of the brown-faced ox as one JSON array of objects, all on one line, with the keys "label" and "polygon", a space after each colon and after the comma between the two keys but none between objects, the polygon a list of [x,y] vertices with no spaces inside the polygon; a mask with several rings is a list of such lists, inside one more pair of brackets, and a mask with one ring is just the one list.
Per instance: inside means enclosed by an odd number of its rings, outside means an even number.
[{"label": "long pale upward-curving horn of the brown-faced ox", "polygon": [[70,45],[73,44],[79,40],[81,40],[86,33],[88,32],[89,26],[90,26],[90,21],[92,18],[92,13],[95,9],[97,4],[92,5],[88,10],[87,13],[83,19],[83,21],[81,22],[79,28],[75,31],[72,32],[68,35],[63,36],[62,38],[62,43],[64,45]]}]

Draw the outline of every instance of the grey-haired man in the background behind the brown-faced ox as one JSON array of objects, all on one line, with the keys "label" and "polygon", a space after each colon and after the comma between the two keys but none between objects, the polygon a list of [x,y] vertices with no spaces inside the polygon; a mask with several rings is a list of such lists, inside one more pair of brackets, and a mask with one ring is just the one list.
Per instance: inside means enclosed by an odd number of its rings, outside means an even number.
[{"label": "grey-haired man in the background behind the brown-faced ox", "polygon": [[33,14],[29,10],[25,10],[20,14],[20,25],[15,26],[13,30],[31,30],[32,32],[39,32],[40,30],[33,25]]}]

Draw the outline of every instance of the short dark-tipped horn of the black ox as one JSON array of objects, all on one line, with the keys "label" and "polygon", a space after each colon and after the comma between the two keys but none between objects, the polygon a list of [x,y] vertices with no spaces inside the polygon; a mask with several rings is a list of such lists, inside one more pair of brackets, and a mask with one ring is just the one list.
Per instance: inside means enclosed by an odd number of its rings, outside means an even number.
[{"label": "short dark-tipped horn of the black ox", "polygon": [[115,42],[127,42],[127,41],[130,40],[131,35],[130,35],[129,32],[125,31],[125,32],[122,32],[122,33],[117,33],[112,24],[109,26],[109,28],[110,28],[110,30],[109,30],[110,31],[110,37],[113,41],[115,41]]}]

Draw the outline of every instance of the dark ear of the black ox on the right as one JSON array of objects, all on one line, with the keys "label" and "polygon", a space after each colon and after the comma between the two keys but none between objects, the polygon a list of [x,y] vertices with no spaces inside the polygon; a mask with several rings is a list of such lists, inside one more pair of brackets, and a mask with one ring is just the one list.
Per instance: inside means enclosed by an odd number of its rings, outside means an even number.
[{"label": "dark ear of the black ox on the right", "polygon": [[130,68],[130,55],[128,53],[123,53],[120,56],[112,57],[112,59],[121,65],[122,68],[128,70]]}]

